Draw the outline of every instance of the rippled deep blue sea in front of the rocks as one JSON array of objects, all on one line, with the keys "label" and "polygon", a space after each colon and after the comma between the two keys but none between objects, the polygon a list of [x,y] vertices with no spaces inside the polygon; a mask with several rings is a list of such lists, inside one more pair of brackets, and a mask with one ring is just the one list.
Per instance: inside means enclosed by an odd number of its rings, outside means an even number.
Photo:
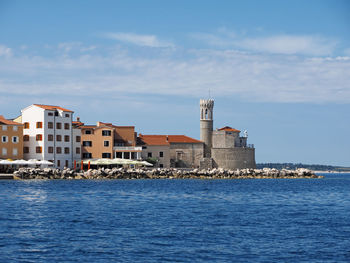
[{"label": "rippled deep blue sea in front of the rocks", "polygon": [[350,174],[1,180],[0,262],[350,262]]}]

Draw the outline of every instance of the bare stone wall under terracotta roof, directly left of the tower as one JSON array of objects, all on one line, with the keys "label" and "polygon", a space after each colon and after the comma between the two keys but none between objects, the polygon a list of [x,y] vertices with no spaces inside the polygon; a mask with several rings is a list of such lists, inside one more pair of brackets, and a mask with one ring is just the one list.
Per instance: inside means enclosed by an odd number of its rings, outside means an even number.
[{"label": "bare stone wall under terracotta roof, directly left of the tower", "polygon": [[171,143],[171,167],[198,168],[203,153],[203,143]]}]

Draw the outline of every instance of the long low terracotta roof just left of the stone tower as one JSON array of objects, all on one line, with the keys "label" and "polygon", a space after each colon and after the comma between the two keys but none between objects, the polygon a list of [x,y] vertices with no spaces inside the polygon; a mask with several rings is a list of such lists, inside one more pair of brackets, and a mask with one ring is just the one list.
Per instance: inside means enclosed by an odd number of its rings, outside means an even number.
[{"label": "long low terracotta roof just left of the stone tower", "polygon": [[169,145],[169,143],[202,143],[186,135],[139,135],[147,145]]}]

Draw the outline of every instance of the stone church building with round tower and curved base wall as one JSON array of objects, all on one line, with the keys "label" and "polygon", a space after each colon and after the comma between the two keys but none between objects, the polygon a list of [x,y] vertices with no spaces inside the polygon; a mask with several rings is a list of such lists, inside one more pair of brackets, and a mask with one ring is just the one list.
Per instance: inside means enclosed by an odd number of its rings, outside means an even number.
[{"label": "stone church building with round tower and curved base wall", "polygon": [[255,148],[248,144],[248,133],[229,126],[213,131],[214,100],[200,100],[200,139],[204,143],[201,168],[255,168]]}]

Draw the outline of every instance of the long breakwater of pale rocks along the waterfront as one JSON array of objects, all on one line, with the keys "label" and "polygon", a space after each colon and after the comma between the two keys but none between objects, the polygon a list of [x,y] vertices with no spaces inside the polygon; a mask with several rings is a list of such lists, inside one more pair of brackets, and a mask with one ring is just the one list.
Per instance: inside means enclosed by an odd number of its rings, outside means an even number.
[{"label": "long breakwater of pale rocks along the waterfront", "polygon": [[16,179],[268,179],[268,178],[322,178],[308,169],[241,169],[241,170],[184,170],[176,168],[158,169],[90,169],[74,171],[53,168],[20,168],[15,171]]}]

